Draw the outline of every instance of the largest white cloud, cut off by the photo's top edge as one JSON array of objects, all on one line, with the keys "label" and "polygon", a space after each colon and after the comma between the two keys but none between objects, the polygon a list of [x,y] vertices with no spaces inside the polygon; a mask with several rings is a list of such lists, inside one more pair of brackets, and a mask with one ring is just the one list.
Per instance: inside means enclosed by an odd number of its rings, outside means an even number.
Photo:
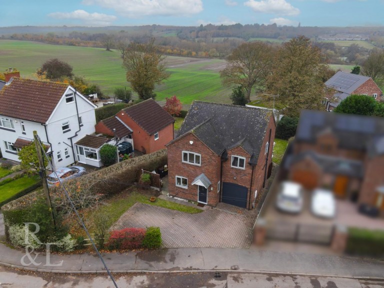
[{"label": "largest white cloud, cut off by the photo's top edge", "polygon": [[85,5],[112,8],[121,15],[139,16],[184,16],[202,11],[201,0],[83,0]]}]

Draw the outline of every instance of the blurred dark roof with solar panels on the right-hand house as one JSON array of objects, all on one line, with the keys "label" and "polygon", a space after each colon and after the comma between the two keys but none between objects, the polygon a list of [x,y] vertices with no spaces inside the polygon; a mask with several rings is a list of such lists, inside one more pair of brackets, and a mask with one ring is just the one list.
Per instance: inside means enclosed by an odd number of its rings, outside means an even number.
[{"label": "blurred dark roof with solar panels on the right-hand house", "polygon": [[377,152],[384,151],[380,140],[384,135],[383,117],[302,110],[295,140],[314,143],[316,136],[325,130],[337,136],[340,148],[370,150],[368,145],[377,143]]}]

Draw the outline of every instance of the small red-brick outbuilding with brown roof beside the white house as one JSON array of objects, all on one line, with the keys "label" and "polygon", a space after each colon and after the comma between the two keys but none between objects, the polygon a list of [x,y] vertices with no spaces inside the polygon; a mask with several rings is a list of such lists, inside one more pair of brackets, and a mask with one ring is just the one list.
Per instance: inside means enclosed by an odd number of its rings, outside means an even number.
[{"label": "small red-brick outbuilding with brown roof beside the white house", "polygon": [[173,139],[174,118],[153,99],[147,99],[119,111],[95,125],[97,133],[133,139],[132,145],[142,153],[165,148]]}]

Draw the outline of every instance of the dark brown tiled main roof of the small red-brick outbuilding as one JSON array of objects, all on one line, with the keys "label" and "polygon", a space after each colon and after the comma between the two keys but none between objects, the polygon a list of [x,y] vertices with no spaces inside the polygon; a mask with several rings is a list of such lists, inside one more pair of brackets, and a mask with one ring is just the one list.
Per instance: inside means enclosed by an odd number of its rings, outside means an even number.
[{"label": "dark brown tiled main roof of the small red-brick outbuilding", "polygon": [[174,122],[174,118],[153,99],[123,109],[149,135]]}]

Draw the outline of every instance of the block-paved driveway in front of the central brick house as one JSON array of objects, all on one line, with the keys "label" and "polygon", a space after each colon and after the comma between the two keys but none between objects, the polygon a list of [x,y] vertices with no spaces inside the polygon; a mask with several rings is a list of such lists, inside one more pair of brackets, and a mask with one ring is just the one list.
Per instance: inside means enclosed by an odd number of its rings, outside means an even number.
[{"label": "block-paved driveway in front of the central brick house", "polygon": [[158,226],[163,245],[168,248],[248,248],[255,219],[254,210],[248,211],[236,207],[237,212],[231,212],[223,210],[227,207],[225,204],[218,207],[208,208],[197,214],[188,214],[136,203],[111,229]]}]

